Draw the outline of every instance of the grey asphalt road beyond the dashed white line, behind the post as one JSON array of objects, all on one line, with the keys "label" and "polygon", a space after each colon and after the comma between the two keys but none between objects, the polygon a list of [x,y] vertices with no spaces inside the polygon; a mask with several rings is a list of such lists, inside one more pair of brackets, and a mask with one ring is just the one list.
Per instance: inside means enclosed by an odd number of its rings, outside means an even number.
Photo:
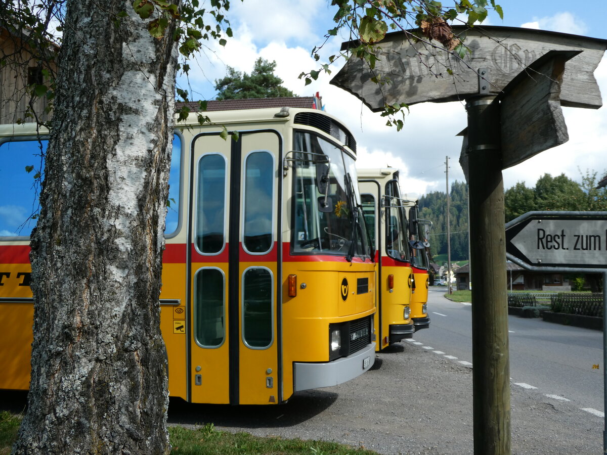
[{"label": "grey asphalt road beyond the dashed white line, behind the post", "polygon": [[[430,288],[433,330],[415,342],[472,363],[472,306],[444,298],[446,288]],[[591,413],[604,413],[603,332],[508,317],[512,387],[526,387],[556,400],[569,400]],[[595,368],[598,366],[599,368]]]}]

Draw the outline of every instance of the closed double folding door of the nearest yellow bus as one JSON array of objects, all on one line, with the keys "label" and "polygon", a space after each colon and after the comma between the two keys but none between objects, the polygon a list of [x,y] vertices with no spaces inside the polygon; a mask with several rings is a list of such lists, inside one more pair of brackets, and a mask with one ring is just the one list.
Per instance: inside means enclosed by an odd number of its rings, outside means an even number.
[{"label": "closed double folding door of the nearest yellow bus", "polygon": [[191,402],[282,401],[280,136],[192,143],[188,298]]}]

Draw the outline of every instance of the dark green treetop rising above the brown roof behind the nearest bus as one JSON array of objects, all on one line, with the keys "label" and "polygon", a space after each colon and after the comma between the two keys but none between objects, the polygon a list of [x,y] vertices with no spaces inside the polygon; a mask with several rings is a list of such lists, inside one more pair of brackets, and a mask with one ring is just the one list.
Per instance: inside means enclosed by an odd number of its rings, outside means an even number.
[{"label": "dark green treetop rising above the brown roof behind the nearest bus", "polygon": [[251,74],[236,71],[228,66],[228,75],[215,81],[217,99],[277,98],[295,96],[281,86],[282,79],[274,75],[276,61],[258,58]]}]

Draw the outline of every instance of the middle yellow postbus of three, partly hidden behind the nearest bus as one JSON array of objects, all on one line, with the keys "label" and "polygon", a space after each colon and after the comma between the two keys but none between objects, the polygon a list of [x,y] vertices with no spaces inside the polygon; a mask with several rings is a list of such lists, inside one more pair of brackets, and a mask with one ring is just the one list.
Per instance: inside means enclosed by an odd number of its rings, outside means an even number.
[{"label": "middle yellow postbus of three, partly hidden behind the nearest bus", "polygon": [[358,184],[378,265],[375,331],[379,351],[415,332],[411,305],[415,281],[407,221],[412,202],[401,197],[396,169],[359,169]]}]

